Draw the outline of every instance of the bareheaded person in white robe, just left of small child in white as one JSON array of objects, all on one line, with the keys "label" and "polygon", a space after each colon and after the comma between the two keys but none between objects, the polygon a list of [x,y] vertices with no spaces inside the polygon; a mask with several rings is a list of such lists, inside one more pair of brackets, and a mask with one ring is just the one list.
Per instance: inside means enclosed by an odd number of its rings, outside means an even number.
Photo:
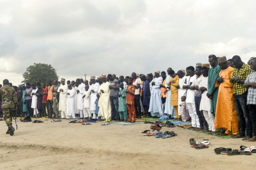
[{"label": "bareheaded person in white robe, just left of small child in white", "polygon": [[83,118],[83,92],[85,92],[85,84],[83,84],[79,78],[77,80],[75,80],[75,82],[78,84],[78,87],[77,87],[77,109],[80,113],[80,118]]}]

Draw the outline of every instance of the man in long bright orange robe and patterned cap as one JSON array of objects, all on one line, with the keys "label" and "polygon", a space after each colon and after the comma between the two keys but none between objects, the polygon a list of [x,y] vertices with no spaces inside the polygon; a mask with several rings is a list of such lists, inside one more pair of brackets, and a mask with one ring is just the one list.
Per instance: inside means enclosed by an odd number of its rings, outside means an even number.
[{"label": "man in long bright orange robe and patterned cap", "polygon": [[217,78],[216,86],[219,86],[218,99],[215,115],[215,129],[223,128],[225,133],[221,136],[238,135],[238,117],[233,102],[233,83],[229,79],[234,68],[227,64],[225,56],[218,58],[218,64],[221,68],[219,78]]}]

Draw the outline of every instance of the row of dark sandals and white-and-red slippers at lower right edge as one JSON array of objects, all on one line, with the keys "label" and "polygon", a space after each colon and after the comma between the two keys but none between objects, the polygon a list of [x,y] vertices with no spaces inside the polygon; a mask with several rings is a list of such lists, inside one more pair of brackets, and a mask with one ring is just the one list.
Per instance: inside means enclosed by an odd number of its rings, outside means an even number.
[{"label": "row of dark sandals and white-and-red slippers at lower right edge", "polygon": [[246,147],[246,146],[240,146],[240,150],[232,149],[232,148],[224,148],[224,147],[218,147],[214,149],[214,152],[218,154],[227,154],[227,155],[251,155],[251,153],[256,153],[256,147]]}]

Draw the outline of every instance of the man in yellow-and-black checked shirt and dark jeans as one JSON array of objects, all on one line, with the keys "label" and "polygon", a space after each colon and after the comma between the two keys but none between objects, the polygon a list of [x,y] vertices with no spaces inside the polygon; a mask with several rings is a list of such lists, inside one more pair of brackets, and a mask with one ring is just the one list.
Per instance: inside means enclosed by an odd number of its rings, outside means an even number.
[{"label": "man in yellow-and-black checked shirt and dark jeans", "polygon": [[[249,65],[242,62],[239,56],[234,56],[232,62],[235,66],[230,77],[230,82],[234,84],[233,101],[238,116],[239,134],[232,138],[243,138],[247,140],[253,137],[251,118],[247,102],[247,88],[243,87],[247,76],[253,72]],[[247,131],[245,136],[245,129]]]}]

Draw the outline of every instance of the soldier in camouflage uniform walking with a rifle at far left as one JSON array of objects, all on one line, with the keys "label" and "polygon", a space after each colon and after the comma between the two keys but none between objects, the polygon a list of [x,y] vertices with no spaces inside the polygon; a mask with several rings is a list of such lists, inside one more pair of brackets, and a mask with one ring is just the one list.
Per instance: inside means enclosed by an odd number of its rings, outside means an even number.
[{"label": "soldier in camouflage uniform walking with a rifle at far left", "polygon": [[9,80],[3,80],[3,87],[0,88],[0,100],[2,100],[3,118],[8,126],[6,134],[14,135],[15,128],[12,126],[12,117],[16,114],[18,102],[15,90],[9,86]]}]

